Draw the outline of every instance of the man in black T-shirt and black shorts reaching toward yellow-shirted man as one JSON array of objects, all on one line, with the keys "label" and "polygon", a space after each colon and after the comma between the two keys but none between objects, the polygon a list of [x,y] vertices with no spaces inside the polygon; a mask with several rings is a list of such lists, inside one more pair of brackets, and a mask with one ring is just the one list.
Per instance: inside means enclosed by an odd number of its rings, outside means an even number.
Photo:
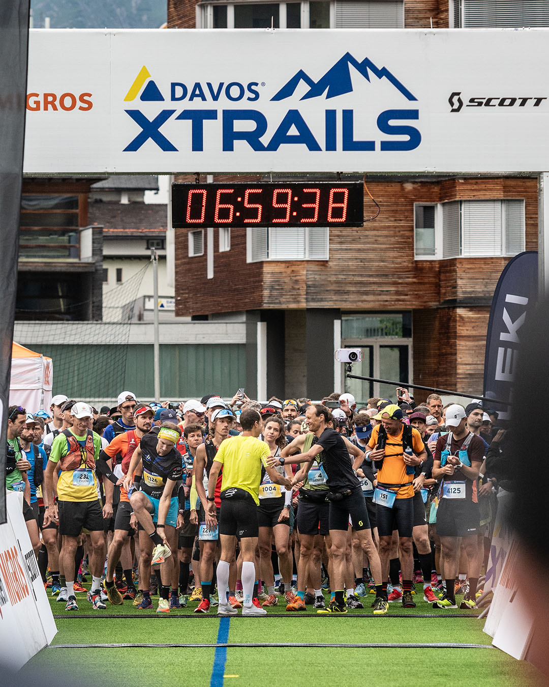
[{"label": "man in black T-shirt and black shorts reaching toward yellow-shirted man", "polygon": [[[303,482],[309,473],[313,460],[316,459],[320,471],[325,473],[329,487],[328,498],[330,500],[329,531],[331,537],[332,576],[331,589],[335,591],[336,598],[330,603],[329,609],[318,613],[347,613],[343,600],[343,582],[345,576],[345,548],[347,545],[347,530],[349,529],[349,517],[353,523],[362,550],[367,554],[370,568],[373,574],[376,588],[374,613],[380,615],[386,613],[388,604],[382,597],[382,569],[379,555],[372,540],[368,511],[362,496],[360,480],[355,475],[354,466],[349,457],[349,451],[343,438],[334,429],[327,428],[331,415],[324,405],[311,405],[305,412],[305,422],[318,440],[307,453],[296,453],[288,458],[292,463],[305,463],[292,480],[292,486]],[[362,458],[356,460],[356,466],[360,466]],[[270,466],[284,463],[284,459],[270,458]]]}]

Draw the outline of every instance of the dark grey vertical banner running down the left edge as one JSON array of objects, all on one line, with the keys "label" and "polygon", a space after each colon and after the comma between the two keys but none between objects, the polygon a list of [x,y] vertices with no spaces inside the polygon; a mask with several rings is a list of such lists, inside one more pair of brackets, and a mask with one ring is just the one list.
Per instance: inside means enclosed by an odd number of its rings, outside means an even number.
[{"label": "dark grey vertical banner running down the left edge", "polygon": [[5,522],[5,448],[19,254],[30,0],[0,0],[0,523]]}]

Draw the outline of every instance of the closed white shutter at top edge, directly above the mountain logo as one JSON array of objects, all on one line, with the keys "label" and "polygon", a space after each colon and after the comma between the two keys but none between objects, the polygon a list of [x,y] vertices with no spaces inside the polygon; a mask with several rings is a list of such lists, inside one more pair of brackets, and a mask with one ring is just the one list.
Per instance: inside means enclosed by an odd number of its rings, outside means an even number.
[{"label": "closed white shutter at top edge, directly above the mountain logo", "polygon": [[336,0],[338,29],[402,29],[404,0]]}]

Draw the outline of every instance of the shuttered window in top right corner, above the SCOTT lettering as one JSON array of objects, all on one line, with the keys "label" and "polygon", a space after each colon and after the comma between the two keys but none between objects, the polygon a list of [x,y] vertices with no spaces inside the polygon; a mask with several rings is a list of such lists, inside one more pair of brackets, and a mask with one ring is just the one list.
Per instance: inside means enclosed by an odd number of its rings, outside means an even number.
[{"label": "shuttered window in top right corner, above the SCOTT lettering", "polygon": [[453,0],[453,10],[456,28],[549,26],[547,0]]}]

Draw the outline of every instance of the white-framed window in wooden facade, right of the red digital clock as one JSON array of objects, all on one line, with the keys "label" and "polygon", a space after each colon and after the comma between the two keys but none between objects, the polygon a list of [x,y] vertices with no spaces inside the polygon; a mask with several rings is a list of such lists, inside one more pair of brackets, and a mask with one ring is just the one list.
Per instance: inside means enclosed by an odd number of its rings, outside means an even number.
[{"label": "white-framed window in wooden facade, right of the red digital clock", "polygon": [[515,256],[524,245],[522,200],[416,203],[414,207],[416,260]]}]

